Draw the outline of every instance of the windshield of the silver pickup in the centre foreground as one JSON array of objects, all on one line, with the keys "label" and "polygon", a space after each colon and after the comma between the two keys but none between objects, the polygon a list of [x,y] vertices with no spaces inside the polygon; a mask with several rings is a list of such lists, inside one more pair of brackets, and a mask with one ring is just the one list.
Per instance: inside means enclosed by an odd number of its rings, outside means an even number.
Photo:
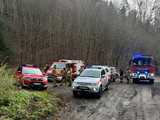
[{"label": "windshield of the silver pickup in the centre foreground", "polygon": [[100,71],[97,70],[84,70],[80,77],[93,77],[93,78],[100,78]]}]

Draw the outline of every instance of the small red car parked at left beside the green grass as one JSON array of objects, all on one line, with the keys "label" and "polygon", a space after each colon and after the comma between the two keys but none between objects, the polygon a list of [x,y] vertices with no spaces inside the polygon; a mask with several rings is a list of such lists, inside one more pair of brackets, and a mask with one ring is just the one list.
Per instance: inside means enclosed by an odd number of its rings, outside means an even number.
[{"label": "small red car parked at left beside the green grass", "polygon": [[39,87],[47,89],[48,80],[35,65],[21,65],[16,71],[16,79],[21,87]]}]

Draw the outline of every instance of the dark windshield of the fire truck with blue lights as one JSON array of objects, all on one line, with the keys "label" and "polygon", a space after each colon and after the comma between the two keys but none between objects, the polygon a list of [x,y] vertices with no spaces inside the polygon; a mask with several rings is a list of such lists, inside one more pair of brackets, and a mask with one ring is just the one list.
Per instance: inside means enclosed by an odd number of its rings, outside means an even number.
[{"label": "dark windshield of the fire truck with blue lights", "polygon": [[152,64],[152,59],[151,58],[138,58],[138,59],[134,59],[133,61],[133,65],[151,65]]}]

